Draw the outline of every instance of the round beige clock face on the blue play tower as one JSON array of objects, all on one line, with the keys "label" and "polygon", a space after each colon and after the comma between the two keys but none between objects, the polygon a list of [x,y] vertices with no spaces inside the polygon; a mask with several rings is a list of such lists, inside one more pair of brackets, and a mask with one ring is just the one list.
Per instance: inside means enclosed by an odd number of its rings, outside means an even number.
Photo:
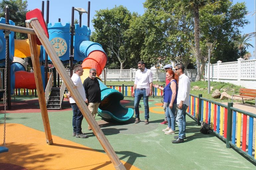
[{"label": "round beige clock face on the blue play tower", "polygon": [[51,39],[51,43],[52,43],[52,46],[55,49],[58,57],[61,57],[66,53],[67,43],[63,38],[55,37],[55,38]]}]

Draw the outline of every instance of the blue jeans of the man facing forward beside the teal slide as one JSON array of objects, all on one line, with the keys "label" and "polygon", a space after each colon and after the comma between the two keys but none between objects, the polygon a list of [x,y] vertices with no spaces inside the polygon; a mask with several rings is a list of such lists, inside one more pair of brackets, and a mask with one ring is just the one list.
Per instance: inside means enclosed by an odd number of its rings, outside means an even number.
[{"label": "blue jeans of the man facing forward beside the teal slide", "polygon": [[141,97],[143,97],[144,108],[145,108],[145,119],[149,119],[149,106],[148,106],[149,96],[146,96],[146,90],[136,90],[134,97],[135,97],[134,98],[135,117],[140,118],[139,103],[140,103]]}]

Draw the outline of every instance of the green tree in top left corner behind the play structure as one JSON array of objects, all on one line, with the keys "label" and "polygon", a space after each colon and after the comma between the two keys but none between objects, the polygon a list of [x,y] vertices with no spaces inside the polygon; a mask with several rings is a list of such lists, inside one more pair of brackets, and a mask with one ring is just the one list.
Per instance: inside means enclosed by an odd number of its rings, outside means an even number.
[{"label": "green tree in top left corner behind the play structure", "polygon": [[[5,7],[9,7],[9,19],[12,20],[16,26],[26,27],[26,13],[28,12],[27,1],[22,0],[1,0],[0,1],[0,17],[5,18]],[[16,32],[16,39],[27,39],[28,35],[25,33]]]}]

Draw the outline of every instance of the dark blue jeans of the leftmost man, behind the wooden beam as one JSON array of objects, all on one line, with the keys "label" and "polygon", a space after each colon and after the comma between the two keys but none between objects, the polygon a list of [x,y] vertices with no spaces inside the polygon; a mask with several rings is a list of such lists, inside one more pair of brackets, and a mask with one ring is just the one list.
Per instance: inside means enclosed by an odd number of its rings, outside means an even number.
[{"label": "dark blue jeans of the leftmost man, behind the wooden beam", "polygon": [[76,132],[77,134],[81,134],[82,133],[81,125],[82,125],[83,115],[80,112],[76,103],[70,103],[70,105],[73,111],[73,121],[72,121],[73,132]]}]

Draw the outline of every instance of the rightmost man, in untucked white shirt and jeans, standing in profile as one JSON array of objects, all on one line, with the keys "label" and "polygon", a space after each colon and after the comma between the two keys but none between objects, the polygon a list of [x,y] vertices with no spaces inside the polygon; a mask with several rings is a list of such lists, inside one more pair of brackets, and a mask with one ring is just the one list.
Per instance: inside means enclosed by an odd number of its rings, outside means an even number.
[{"label": "rightmost man, in untucked white shirt and jeans, standing in profile", "polygon": [[178,111],[176,118],[179,127],[179,136],[174,136],[176,140],[172,141],[172,143],[182,143],[184,142],[184,139],[186,139],[186,110],[190,103],[190,80],[189,77],[184,74],[185,67],[183,64],[177,64],[175,70],[179,76],[179,89],[177,95]]}]

